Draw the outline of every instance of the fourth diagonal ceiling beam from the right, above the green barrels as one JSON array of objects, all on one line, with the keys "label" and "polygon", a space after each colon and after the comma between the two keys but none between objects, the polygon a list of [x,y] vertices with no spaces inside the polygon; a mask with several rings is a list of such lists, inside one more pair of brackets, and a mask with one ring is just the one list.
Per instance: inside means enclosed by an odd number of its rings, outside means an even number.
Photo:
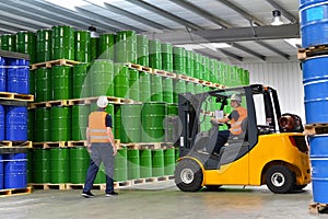
[{"label": "fourth diagonal ceiling beam from the right, above the green barrels", "polygon": [[153,13],[157,13],[161,16],[164,16],[164,18],[166,18],[168,20],[172,20],[172,21],[174,21],[176,23],[179,23],[183,26],[189,27],[191,30],[204,30],[204,28],[202,28],[201,26],[199,26],[197,24],[194,24],[194,23],[191,23],[191,22],[189,22],[187,20],[184,20],[184,19],[181,19],[181,18],[179,18],[177,15],[174,15],[173,13],[164,11],[163,9],[154,7],[153,4],[150,4],[150,3],[145,2],[145,1],[141,1],[141,0],[127,0],[127,1],[130,2],[130,3],[133,3],[136,5],[138,5],[140,8],[147,9],[147,10],[153,12]]}]

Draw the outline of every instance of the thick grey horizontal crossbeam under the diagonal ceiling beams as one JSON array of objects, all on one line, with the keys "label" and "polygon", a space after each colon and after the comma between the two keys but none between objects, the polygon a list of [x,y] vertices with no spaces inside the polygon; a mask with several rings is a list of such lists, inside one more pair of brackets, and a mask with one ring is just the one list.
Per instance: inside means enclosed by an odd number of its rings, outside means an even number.
[{"label": "thick grey horizontal crossbeam under the diagonal ceiling beams", "polygon": [[[254,35],[254,31],[256,35]],[[192,39],[190,39],[190,34]],[[168,41],[172,44],[199,44],[199,43],[236,43],[244,41],[263,41],[300,37],[300,24],[284,24],[281,26],[254,26],[200,30],[187,32],[149,33],[159,41]]]}]

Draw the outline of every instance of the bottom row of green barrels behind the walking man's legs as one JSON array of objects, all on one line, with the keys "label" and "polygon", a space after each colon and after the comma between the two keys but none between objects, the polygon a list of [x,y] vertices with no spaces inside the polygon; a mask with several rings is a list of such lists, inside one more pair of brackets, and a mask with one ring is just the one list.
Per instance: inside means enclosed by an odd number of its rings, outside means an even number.
[{"label": "bottom row of green barrels behind the walking man's legs", "polygon": [[[177,150],[121,148],[115,157],[114,181],[171,176]],[[85,147],[34,149],[28,153],[28,182],[33,184],[83,184],[89,168]],[[95,184],[104,184],[105,169],[99,166]]]}]

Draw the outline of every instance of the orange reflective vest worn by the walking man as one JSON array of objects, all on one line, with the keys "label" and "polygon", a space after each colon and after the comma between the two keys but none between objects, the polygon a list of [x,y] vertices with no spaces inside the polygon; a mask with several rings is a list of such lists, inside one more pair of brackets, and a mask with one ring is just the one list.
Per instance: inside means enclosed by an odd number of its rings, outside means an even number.
[{"label": "orange reflective vest worn by the walking man", "polygon": [[89,116],[90,142],[109,142],[106,128],[106,112],[93,112]]}]

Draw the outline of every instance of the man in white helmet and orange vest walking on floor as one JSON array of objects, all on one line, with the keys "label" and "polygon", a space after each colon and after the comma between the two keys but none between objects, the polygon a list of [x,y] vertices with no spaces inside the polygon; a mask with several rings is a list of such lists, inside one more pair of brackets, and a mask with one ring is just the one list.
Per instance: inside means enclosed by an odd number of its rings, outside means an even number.
[{"label": "man in white helmet and orange vest walking on floor", "polygon": [[105,112],[108,105],[106,96],[99,96],[97,100],[98,110],[89,115],[89,126],[86,128],[87,148],[91,162],[87,169],[85,184],[82,196],[92,198],[91,193],[93,182],[103,162],[106,171],[106,196],[117,195],[114,192],[114,157],[117,153],[114,135],[112,131],[112,116]]}]

